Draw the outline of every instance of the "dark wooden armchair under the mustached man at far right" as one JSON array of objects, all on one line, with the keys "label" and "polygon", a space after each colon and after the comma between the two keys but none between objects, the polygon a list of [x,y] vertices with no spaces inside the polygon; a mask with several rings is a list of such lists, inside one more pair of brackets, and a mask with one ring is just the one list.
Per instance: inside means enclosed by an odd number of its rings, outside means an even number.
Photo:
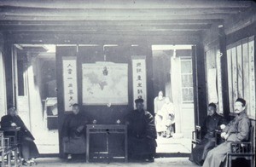
[{"label": "dark wooden armchair under the mustached man at far right", "polygon": [[227,153],[227,163],[229,167],[232,166],[232,160],[235,160],[236,158],[245,158],[250,160],[250,166],[253,166],[253,160],[255,156],[255,152],[253,150],[254,140],[254,126],[251,126],[248,141],[231,143],[231,151],[230,153]]}]

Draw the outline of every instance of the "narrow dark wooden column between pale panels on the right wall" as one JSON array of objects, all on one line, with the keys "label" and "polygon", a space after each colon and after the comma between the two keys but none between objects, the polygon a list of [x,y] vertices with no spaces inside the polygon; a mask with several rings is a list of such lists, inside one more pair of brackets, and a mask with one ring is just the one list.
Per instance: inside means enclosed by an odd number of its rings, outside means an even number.
[{"label": "narrow dark wooden column between pale panels on the right wall", "polygon": [[228,60],[226,49],[226,35],[224,33],[224,25],[218,26],[218,41],[219,51],[222,54],[220,57],[221,63],[221,84],[222,84],[222,99],[224,117],[229,118],[230,114],[230,100],[229,100],[229,81],[228,81]]}]

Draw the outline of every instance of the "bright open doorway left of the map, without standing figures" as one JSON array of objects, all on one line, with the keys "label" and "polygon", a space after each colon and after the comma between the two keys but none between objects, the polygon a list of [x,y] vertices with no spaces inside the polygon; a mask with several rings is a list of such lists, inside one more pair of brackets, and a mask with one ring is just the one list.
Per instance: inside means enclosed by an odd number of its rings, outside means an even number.
[{"label": "bright open doorway left of the map, without standing figures", "polygon": [[15,44],[15,105],[40,154],[59,153],[55,45]]}]

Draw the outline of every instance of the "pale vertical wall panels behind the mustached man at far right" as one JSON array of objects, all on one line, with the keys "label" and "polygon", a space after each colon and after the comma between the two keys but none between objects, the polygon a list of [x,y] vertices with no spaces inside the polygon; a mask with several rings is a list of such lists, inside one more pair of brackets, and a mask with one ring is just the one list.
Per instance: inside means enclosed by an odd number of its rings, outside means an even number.
[{"label": "pale vertical wall panels behind the mustached man at far right", "polygon": [[[247,114],[255,119],[255,42],[254,36],[230,44],[227,50],[230,111],[237,97],[247,101]],[[230,68],[230,66],[232,66]]]}]

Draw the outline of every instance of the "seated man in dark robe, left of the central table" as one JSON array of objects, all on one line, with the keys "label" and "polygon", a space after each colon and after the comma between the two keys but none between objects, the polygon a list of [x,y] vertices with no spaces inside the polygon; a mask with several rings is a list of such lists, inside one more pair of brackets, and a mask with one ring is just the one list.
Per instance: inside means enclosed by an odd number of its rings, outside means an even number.
[{"label": "seated man in dark robe, left of the central table", "polygon": [[67,115],[61,130],[64,153],[67,154],[67,159],[72,159],[73,154],[85,153],[86,124],[87,120],[81,114],[79,105],[73,104],[73,112]]}]

